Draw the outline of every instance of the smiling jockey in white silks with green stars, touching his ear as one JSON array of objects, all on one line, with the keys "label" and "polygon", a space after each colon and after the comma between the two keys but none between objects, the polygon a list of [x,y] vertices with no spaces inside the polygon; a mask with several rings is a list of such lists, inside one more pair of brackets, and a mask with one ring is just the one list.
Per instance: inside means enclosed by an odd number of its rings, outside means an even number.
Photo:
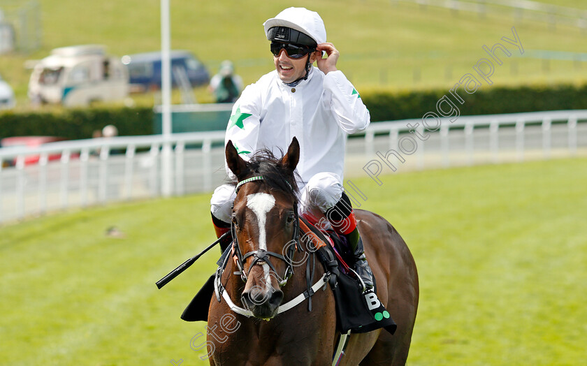
[{"label": "smiling jockey in white silks with green stars, touching his ear", "polygon": [[[248,160],[259,149],[279,156],[296,137],[300,214],[313,223],[321,218],[321,224],[329,223],[347,238],[354,258],[350,264],[365,286],[372,287],[363,240],[342,186],[347,134],[367,128],[369,111],[336,68],[339,53],[326,43],[326,28],[318,13],[287,8],[263,26],[275,70],[242,92],[233,106],[225,144],[231,140],[242,159]],[[318,67],[312,66],[314,62]],[[230,230],[234,199],[235,189],[229,184],[219,186],[212,195],[212,223],[218,237]],[[220,244],[224,251],[230,240]]]}]

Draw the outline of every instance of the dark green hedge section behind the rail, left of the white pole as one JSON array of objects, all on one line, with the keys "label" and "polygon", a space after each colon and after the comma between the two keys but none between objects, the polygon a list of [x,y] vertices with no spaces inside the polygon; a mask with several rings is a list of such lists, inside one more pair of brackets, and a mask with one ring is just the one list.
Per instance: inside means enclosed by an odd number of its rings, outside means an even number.
[{"label": "dark green hedge section behind the rail, left of the white pole", "polygon": [[0,138],[10,136],[60,136],[78,140],[113,124],[119,136],[153,133],[152,108],[87,108],[58,112],[2,112]]}]

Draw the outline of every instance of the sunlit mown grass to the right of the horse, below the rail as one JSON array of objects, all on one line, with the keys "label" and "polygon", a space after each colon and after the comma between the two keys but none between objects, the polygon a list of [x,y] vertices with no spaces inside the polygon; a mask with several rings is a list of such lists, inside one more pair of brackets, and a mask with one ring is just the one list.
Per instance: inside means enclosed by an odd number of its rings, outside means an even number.
[{"label": "sunlit mown grass to the right of the horse, below the rail", "polygon": [[384,187],[388,200],[370,208],[390,212],[419,268],[411,365],[584,363],[587,160],[397,175]]}]

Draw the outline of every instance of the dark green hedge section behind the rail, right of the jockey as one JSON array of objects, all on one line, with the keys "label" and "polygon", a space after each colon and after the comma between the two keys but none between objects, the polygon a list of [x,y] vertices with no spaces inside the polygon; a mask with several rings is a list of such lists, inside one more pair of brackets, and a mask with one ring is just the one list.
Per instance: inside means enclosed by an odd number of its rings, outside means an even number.
[{"label": "dark green hedge section behind the rail, right of the jockey", "polygon": [[[363,103],[372,121],[421,118],[435,112],[436,103],[447,95],[448,89],[423,92],[361,92]],[[521,87],[479,87],[467,94],[462,88],[458,95],[465,103],[456,103],[461,115],[493,115],[498,113],[537,112],[540,110],[587,109],[587,85],[550,85]]]}]

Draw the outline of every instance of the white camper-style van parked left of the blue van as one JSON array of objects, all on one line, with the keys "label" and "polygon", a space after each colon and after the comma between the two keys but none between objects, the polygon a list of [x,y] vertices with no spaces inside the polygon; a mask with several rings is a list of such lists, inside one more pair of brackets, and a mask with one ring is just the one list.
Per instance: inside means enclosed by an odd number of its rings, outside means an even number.
[{"label": "white camper-style van parked left of the blue van", "polygon": [[103,45],[55,48],[34,66],[29,81],[32,103],[88,105],[115,101],[129,94],[129,73],[119,57]]}]

